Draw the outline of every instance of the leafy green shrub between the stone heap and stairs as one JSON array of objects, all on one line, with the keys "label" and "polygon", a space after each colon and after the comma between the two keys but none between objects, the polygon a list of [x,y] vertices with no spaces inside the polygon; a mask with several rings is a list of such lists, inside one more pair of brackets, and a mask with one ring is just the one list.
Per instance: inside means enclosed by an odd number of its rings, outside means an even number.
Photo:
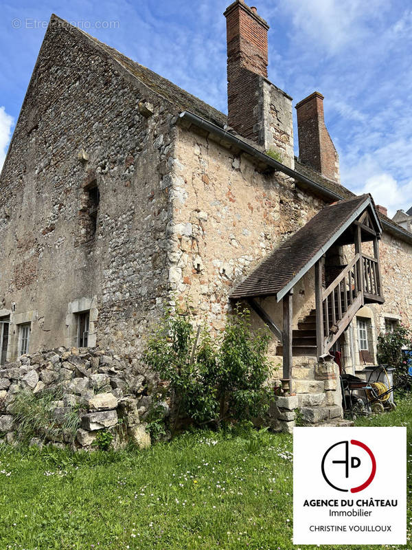
[{"label": "leafy green shrub between the stone heap and stairs", "polygon": [[[168,314],[148,341],[145,359],[163,380],[174,409],[174,430],[190,421],[221,426],[264,415],[271,393],[266,359],[270,336],[251,330],[250,314],[236,309],[220,338],[197,329],[190,313]],[[164,396],[163,396],[164,399]]]}]

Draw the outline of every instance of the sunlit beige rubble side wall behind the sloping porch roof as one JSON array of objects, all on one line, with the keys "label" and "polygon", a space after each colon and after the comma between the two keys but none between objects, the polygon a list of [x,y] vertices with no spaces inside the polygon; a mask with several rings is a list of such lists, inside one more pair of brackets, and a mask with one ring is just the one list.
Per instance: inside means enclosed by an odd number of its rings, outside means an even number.
[{"label": "sunlit beige rubble side wall behind the sloping porch roof", "polygon": [[[220,331],[231,290],[323,203],[300,192],[292,179],[265,175],[243,155],[184,129],[175,154],[172,290],[182,303],[190,298],[199,320]],[[295,327],[314,307],[312,279],[311,271],[295,289]],[[281,322],[282,304],[268,298],[264,305]]]}]

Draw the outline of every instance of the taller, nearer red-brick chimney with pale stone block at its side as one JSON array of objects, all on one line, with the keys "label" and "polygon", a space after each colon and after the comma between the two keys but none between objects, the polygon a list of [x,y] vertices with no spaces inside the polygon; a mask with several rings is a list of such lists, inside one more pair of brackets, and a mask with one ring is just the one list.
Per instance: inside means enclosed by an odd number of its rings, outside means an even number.
[{"label": "taller, nearer red-brick chimney with pale stone block at its side", "polygon": [[267,79],[269,26],[243,0],[224,15],[229,126],[293,168],[292,98]]}]

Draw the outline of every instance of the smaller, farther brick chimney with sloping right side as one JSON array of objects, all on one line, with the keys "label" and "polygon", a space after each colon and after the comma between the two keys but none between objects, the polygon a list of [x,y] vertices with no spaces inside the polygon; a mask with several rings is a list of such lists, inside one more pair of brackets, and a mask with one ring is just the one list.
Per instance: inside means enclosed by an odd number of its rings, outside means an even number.
[{"label": "smaller, farther brick chimney with sloping right side", "polygon": [[339,182],[339,155],[325,126],[322,94],[314,91],[296,105],[296,110],[299,161]]}]

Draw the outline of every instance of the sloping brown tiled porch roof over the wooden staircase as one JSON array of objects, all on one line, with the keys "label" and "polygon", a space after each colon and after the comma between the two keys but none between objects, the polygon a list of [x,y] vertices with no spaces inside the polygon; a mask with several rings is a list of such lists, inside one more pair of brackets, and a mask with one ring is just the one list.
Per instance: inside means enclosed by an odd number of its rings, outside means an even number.
[{"label": "sloping brown tiled porch roof over the wooden staircase", "polygon": [[325,206],[269,254],[234,289],[230,298],[276,296],[277,301],[281,300],[368,206],[376,231],[380,234],[382,227],[371,195],[360,195]]}]

